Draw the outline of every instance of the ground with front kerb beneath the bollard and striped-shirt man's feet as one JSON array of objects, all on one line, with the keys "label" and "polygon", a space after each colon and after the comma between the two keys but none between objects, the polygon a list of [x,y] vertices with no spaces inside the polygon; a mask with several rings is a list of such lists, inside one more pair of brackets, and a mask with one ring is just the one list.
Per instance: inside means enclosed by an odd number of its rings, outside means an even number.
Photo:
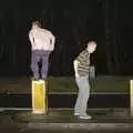
[{"label": "ground with front kerb beneath the bollard and striped-shirt man's feet", "polygon": [[[8,110],[14,123],[28,129],[45,130],[133,130],[133,117],[127,109],[90,109],[92,120],[79,120],[73,116],[73,110],[49,109],[49,115],[34,115],[31,110]],[[6,110],[4,110],[6,111]],[[12,113],[13,112],[13,113]],[[1,114],[2,115],[2,114]]]}]

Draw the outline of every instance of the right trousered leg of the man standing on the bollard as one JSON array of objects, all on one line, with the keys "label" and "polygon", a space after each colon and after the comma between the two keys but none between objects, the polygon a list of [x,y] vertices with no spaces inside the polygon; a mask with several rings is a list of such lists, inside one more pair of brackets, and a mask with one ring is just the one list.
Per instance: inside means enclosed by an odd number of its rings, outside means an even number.
[{"label": "right trousered leg of the man standing on the bollard", "polygon": [[50,51],[44,51],[42,54],[42,68],[41,68],[41,76],[43,80],[48,78],[49,57],[50,57]]}]

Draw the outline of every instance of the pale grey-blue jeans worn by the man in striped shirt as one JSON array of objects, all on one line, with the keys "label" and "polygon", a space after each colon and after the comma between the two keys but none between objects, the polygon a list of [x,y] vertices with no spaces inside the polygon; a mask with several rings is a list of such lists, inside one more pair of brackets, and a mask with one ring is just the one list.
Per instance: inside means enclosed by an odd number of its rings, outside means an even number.
[{"label": "pale grey-blue jeans worn by the man in striped shirt", "polygon": [[90,98],[89,75],[75,76],[75,82],[79,88],[78,99],[74,106],[74,112],[80,115],[86,114],[88,101]]}]

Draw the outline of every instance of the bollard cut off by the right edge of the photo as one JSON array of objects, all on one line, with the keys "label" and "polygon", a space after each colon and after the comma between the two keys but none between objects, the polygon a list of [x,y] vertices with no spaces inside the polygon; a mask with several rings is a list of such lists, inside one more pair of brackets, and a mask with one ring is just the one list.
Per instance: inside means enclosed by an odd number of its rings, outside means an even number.
[{"label": "bollard cut off by the right edge of the photo", "polygon": [[130,80],[130,113],[133,116],[133,80]]}]

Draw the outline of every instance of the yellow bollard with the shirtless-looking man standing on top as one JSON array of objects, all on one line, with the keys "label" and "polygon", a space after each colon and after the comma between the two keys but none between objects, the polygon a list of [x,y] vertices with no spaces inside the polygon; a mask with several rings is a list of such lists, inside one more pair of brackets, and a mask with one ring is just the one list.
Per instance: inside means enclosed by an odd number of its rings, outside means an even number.
[{"label": "yellow bollard with the shirtless-looking man standing on top", "polygon": [[32,113],[48,113],[47,82],[43,80],[32,81]]}]

